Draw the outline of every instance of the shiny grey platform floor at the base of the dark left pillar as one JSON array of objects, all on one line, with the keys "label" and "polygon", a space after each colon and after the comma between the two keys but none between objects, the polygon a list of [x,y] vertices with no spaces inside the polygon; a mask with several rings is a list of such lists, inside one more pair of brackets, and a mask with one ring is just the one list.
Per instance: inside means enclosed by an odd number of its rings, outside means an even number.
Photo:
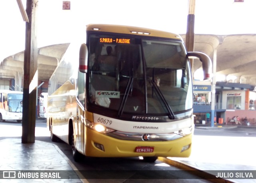
[{"label": "shiny grey platform floor at the base of the dark left pillar", "polygon": [[[55,144],[40,140],[36,140],[35,143],[22,144],[21,138],[6,138],[0,141],[0,147],[1,183],[11,181],[17,183],[83,182],[80,179],[81,175],[75,171],[77,170],[76,167]],[[42,172],[46,174],[40,179]],[[39,179],[30,179],[31,176]],[[14,180],[14,177],[26,177],[28,179]]]}]

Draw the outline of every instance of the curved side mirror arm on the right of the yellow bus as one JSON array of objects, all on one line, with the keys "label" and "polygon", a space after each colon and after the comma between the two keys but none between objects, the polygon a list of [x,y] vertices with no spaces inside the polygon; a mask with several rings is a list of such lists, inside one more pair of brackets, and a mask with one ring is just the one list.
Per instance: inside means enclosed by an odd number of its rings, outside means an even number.
[{"label": "curved side mirror arm on the right of the yellow bus", "polygon": [[202,62],[204,71],[204,80],[211,79],[212,74],[212,61],[208,55],[198,51],[191,51],[187,53],[188,58],[194,59],[197,57]]}]

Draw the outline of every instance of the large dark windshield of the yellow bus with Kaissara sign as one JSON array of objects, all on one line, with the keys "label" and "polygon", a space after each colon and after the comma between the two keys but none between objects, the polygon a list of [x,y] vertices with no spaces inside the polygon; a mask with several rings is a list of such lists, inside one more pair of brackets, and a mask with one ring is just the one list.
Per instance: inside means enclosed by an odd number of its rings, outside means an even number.
[{"label": "large dark windshield of the yellow bus with Kaissara sign", "polygon": [[174,113],[192,108],[184,44],[146,38],[89,35],[90,104],[120,115],[167,114],[172,118]]}]

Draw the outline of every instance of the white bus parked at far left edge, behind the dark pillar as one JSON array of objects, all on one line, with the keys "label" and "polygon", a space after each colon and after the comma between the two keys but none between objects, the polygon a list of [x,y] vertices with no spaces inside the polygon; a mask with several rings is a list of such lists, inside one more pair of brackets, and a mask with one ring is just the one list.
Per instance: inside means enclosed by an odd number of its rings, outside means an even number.
[{"label": "white bus parked at far left edge, behind the dark pillar", "polygon": [[0,121],[17,120],[22,122],[23,92],[0,90]]}]

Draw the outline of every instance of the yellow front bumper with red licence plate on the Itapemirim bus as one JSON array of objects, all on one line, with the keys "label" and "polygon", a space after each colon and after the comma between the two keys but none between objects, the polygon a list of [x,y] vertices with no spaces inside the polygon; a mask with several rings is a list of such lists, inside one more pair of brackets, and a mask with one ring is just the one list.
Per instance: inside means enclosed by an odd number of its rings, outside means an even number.
[{"label": "yellow front bumper with red licence plate on the Itapemirim bus", "polygon": [[86,130],[84,155],[90,157],[189,157],[191,153],[192,134],[176,140],[150,142],[120,140],[90,128]]}]

